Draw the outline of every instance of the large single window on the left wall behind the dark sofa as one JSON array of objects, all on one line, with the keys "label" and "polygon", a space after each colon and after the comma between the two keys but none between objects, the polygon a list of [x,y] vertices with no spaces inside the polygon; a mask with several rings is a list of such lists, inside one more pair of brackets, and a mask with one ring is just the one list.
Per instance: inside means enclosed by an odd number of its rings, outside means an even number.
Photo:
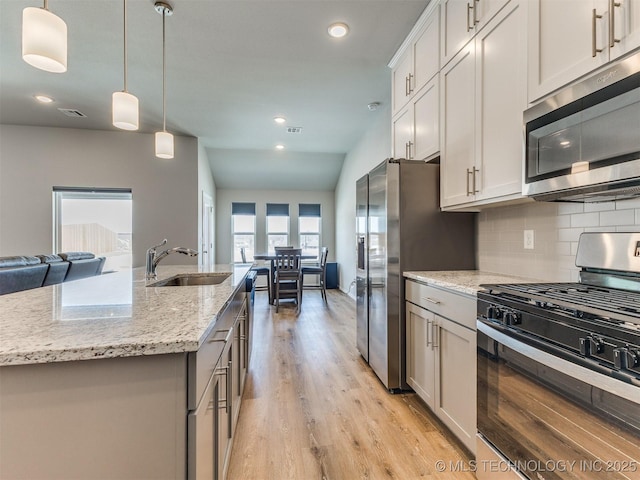
[{"label": "large single window on the left wall behind the dark sofa", "polygon": [[53,199],[54,251],[105,257],[105,272],[131,268],[131,190],[54,187]]}]

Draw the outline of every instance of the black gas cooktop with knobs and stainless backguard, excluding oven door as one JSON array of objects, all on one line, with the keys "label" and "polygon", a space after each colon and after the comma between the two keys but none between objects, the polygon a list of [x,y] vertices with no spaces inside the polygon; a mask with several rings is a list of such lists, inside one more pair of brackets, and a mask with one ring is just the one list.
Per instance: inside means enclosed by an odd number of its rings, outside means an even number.
[{"label": "black gas cooktop with knobs and stainless backguard, excluding oven door", "polygon": [[[613,245],[609,255],[594,254],[602,245]],[[478,319],[640,385],[638,249],[640,234],[583,234],[576,258],[582,267],[579,283],[482,285]],[[639,270],[630,271],[633,266]]]}]

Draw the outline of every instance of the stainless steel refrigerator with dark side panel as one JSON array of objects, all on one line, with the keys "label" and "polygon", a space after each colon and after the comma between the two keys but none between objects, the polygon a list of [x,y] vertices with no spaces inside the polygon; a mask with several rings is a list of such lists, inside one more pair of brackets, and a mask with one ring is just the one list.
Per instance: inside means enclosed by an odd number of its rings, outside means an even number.
[{"label": "stainless steel refrigerator with dark side panel", "polygon": [[475,214],[440,211],[438,164],[387,159],[356,183],[357,347],[385,387],[406,384],[408,270],[476,268]]}]

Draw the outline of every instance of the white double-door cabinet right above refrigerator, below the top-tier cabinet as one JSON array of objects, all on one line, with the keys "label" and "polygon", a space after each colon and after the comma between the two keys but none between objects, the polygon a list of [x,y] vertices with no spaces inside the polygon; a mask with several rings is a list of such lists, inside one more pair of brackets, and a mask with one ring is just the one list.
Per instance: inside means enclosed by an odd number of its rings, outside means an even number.
[{"label": "white double-door cabinet right above refrigerator, below the top-tier cabinet", "polygon": [[393,117],[393,157],[423,160],[440,150],[438,84],[439,78],[432,78]]}]

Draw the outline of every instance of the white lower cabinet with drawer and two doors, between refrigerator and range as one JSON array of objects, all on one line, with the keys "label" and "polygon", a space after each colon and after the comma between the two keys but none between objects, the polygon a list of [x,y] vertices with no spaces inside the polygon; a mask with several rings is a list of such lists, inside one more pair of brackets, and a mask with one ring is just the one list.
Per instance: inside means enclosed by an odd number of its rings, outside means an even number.
[{"label": "white lower cabinet with drawer and two doors, between refrigerator and range", "polygon": [[475,453],[476,302],[407,280],[407,383]]}]

